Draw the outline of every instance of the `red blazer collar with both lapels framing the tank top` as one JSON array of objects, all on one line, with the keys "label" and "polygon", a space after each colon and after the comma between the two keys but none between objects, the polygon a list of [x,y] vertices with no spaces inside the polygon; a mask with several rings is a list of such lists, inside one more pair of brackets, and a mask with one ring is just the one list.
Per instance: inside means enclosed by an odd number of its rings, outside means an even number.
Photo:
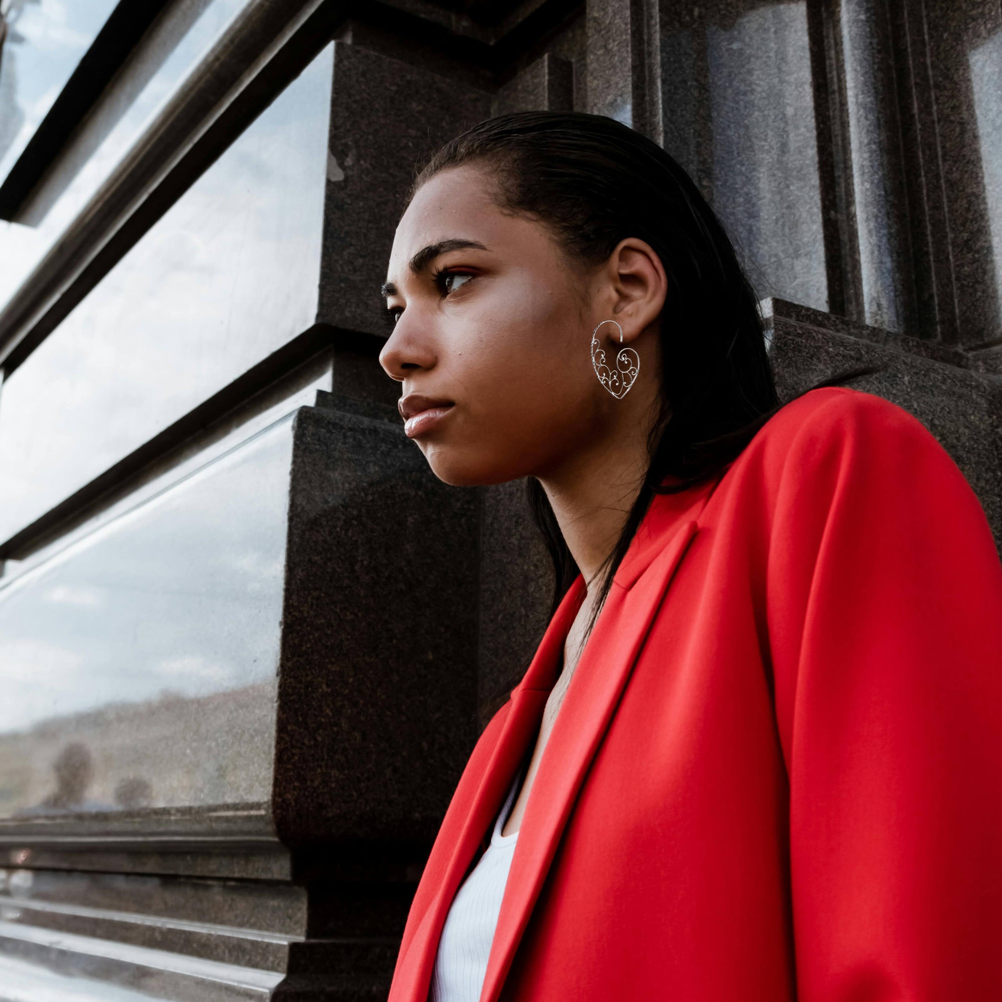
[{"label": "red blazer collar with both lapels framing the tank top", "polygon": [[[564,696],[519,830],[481,999],[496,1002],[539,896],[584,776],[609,725],[664,591],[696,533],[692,517],[708,490],[656,495],[614,578]],[[485,832],[535,742],[546,699],[563,665],[563,645],[585,594],[580,575],[554,613],[465,812],[443,824],[442,869],[413,938],[404,946],[392,1002],[424,1002],[442,927]],[[429,860],[431,869],[432,860]],[[438,869],[436,867],[436,869]],[[419,889],[420,897],[420,889]],[[417,904],[417,899],[416,899]]]}]

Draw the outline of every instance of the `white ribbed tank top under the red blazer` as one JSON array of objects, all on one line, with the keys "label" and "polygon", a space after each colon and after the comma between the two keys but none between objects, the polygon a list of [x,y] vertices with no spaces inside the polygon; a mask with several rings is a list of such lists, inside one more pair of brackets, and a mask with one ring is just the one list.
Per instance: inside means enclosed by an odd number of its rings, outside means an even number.
[{"label": "white ribbed tank top under the red blazer", "polygon": [[501,830],[515,803],[521,780],[519,773],[494,823],[491,844],[463,882],[449,909],[435,958],[431,1002],[478,1002],[480,998],[518,838],[518,832],[504,837]]}]

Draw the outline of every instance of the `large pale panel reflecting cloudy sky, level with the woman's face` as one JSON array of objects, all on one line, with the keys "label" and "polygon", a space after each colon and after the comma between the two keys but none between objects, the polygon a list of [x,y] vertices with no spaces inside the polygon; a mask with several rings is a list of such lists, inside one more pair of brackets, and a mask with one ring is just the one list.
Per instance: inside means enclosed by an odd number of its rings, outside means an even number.
[{"label": "large pale panel reflecting cloudy sky, level with the woman's face", "polygon": [[4,383],[4,539],[314,323],[333,67],[328,46]]}]

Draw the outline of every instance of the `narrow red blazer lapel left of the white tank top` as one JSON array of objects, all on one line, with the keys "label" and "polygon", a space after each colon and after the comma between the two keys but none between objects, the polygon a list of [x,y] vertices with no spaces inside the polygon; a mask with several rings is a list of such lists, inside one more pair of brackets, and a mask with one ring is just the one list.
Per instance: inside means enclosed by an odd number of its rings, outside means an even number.
[{"label": "narrow red blazer lapel left of the white tank top", "polygon": [[[440,848],[449,853],[434,895],[419,920],[413,939],[401,957],[394,977],[392,1002],[425,1002],[431,984],[438,942],[459,885],[488,828],[493,824],[515,778],[529,743],[539,732],[543,708],[562,664],[562,649],[570,624],[584,595],[580,575],[554,613],[525,677],[511,694],[511,708],[497,743],[484,769],[469,808],[457,825],[443,824],[433,856]],[[451,808],[450,808],[451,813]],[[450,852],[451,850],[451,852]],[[432,860],[429,860],[429,871]],[[429,873],[434,879],[434,875]]]}]

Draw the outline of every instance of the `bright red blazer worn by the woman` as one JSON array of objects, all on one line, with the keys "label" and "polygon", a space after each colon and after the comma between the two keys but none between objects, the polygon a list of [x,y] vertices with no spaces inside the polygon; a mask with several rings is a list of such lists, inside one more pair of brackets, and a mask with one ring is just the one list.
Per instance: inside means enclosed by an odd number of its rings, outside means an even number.
[{"label": "bright red blazer worn by the woman", "polygon": [[[473,752],[393,1002],[426,999],[582,593]],[[870,394],[792,402],[633,540],[529,798],[481,999],[1002,999],[1000,669],[1002,565],[947,453]]]}]

